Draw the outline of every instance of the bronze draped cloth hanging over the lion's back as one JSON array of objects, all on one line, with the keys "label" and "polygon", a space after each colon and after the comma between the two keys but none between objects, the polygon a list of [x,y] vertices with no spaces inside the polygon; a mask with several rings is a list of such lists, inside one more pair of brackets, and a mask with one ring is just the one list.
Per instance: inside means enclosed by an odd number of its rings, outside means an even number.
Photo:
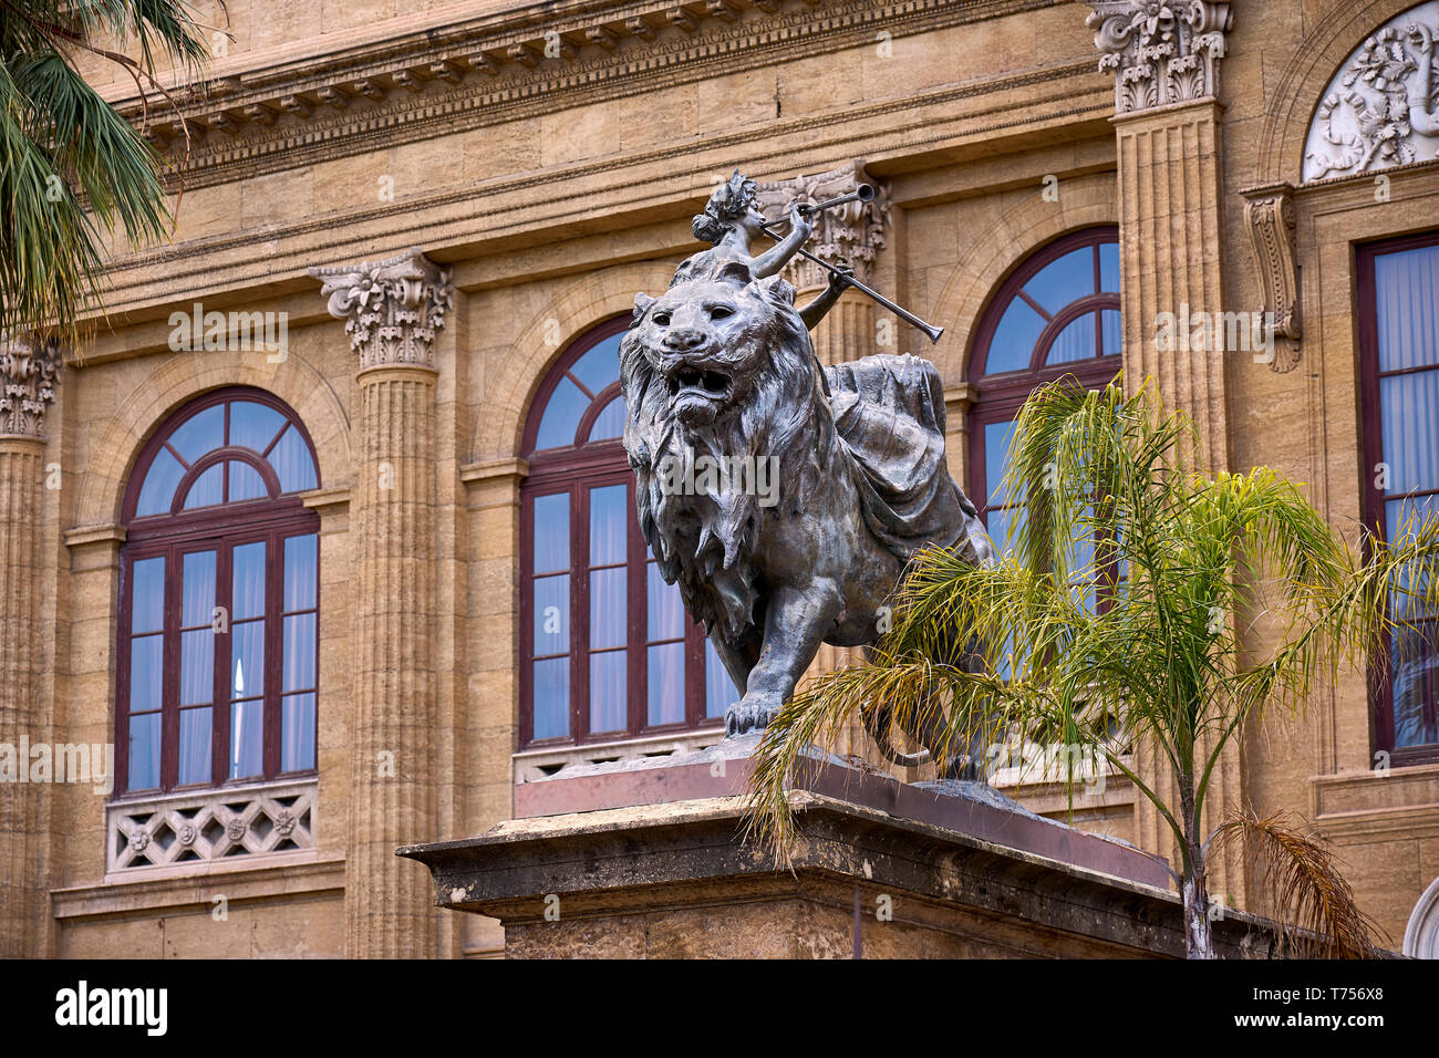
[{"label": "bronze draped cloth hanging over the lion's back", "polygon": [[869,356],[826,367],[825,380],[869,531],[905,561],[925,544],[958,546],[979,561],[979,515],[944,459],[944,386],[934,364]]}]

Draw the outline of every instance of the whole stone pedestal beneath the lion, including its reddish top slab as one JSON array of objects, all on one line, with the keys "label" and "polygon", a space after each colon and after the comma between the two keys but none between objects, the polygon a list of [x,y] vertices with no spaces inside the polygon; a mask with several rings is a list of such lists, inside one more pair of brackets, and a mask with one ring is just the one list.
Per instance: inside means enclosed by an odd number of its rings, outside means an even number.
[{"label": "whole stone pedestal beneath the lion, including its reddish top slab", "polygon": [[[977,785],[907,786],[810,760],[793,871],[743,841],[754,740],[517,787],[517,819],[401,848],[435,903],[498,918],[532,957],[1179,957],[1164,868]],[[1274,939],[1215,923],[1229,957]]]}]

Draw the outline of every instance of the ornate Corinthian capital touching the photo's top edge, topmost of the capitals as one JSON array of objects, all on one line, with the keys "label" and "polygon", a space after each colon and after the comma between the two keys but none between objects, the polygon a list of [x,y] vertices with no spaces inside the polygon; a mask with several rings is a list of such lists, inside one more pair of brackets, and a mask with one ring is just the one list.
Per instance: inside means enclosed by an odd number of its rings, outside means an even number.
[{"label": "ornate Corinthian capital touching the photo's top edge, topmost of the capitals", "polygon": [[1085,24],[1114,71],[1117,114],[1219,95],[1219,60],[1235,16],[1210,0],[1086,0]]}]

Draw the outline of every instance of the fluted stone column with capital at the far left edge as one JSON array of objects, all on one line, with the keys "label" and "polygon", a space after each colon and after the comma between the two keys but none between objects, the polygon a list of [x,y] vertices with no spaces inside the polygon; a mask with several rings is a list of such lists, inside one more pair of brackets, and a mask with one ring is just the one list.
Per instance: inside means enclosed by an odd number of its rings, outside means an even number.
[{"label": "fluted stone column with capital at the far left edge", "polygon": [[49,741],[42,702],[45,409],[55,400],[59,354],[0,340],[0,746],[26,774],[0,782],[0,956],[46,954],[50,915],[45,787],[29,782],[23,746]]}]

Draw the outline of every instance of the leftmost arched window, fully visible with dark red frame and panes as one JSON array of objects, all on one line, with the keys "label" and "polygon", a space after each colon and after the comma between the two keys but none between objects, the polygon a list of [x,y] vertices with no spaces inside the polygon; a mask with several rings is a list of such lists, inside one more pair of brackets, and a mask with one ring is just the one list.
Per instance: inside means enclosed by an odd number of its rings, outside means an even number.
[{"label": "leftmost arched window, fully visible with dark red frame and panes", "polygon": [[252,389],[206,394],[145,443],[125,492],[117,789],[314,772],[314,446]]}]

